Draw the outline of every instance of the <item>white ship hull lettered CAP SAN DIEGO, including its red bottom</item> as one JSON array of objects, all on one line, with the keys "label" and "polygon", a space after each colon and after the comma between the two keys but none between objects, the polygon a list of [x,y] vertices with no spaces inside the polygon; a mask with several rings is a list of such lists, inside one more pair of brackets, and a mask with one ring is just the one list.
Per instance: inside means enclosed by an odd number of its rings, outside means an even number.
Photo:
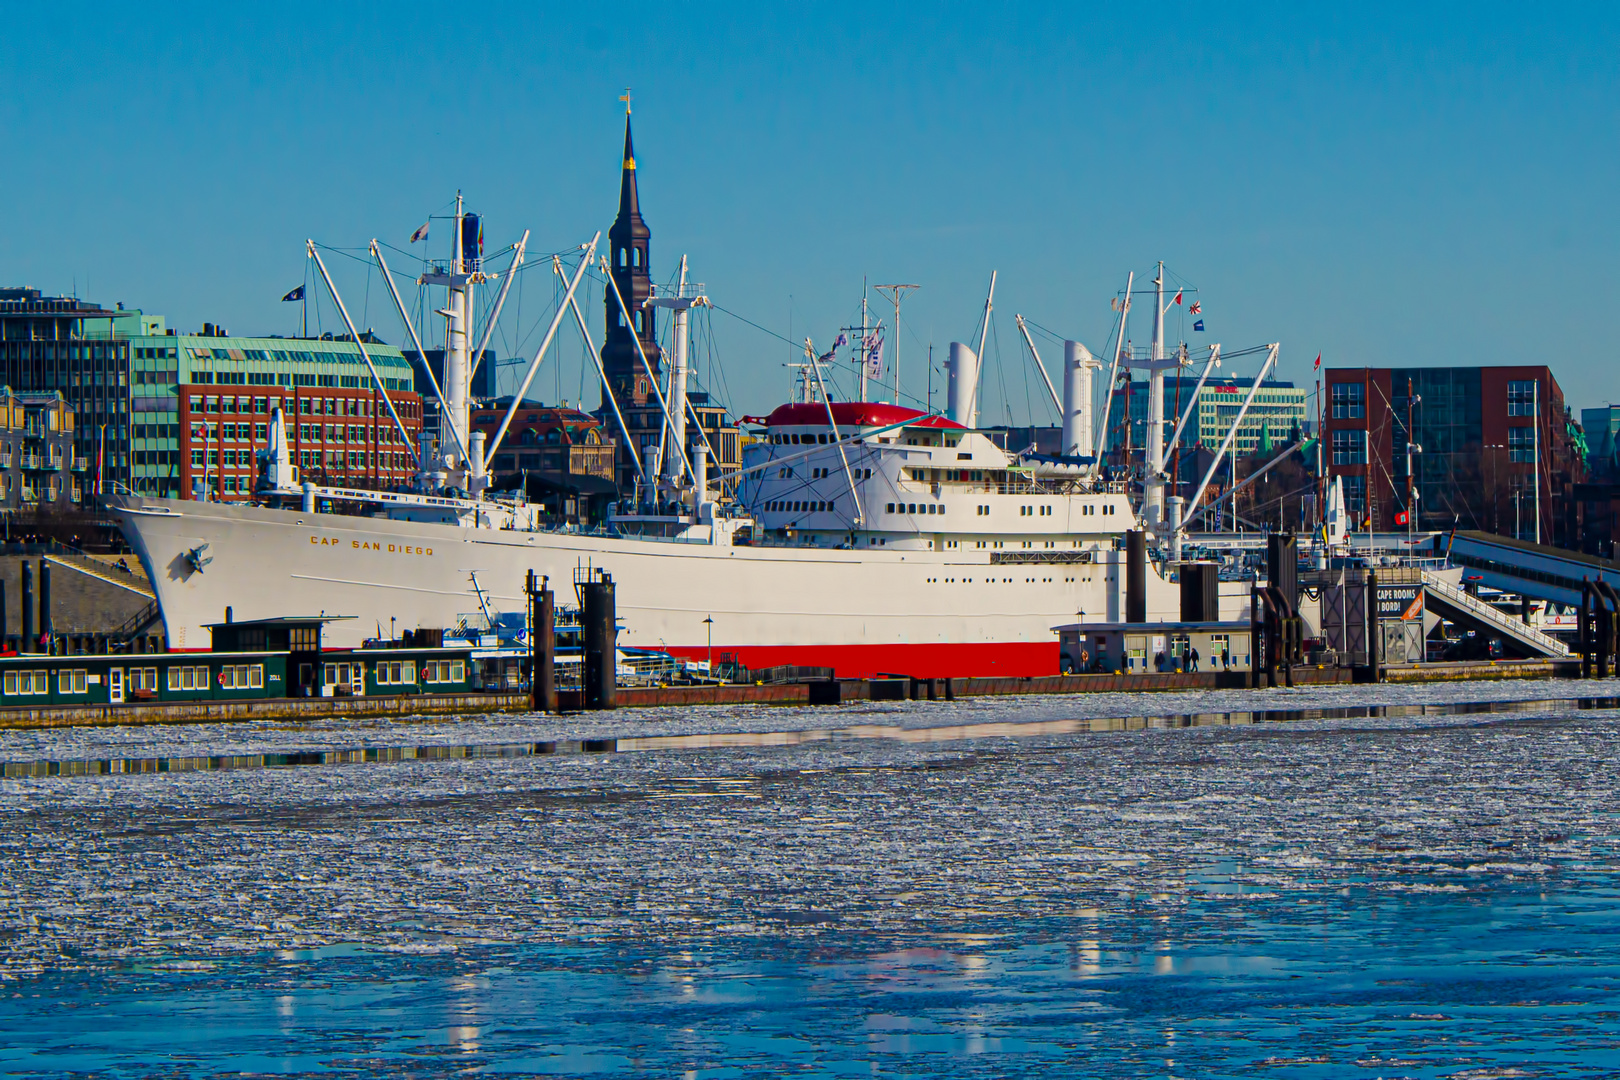
[{"label": "white ship hull lettered CAP SAN DIEGO, including its red bottom", "polygon": [[[387,517],[122,497],[123,531],[151,575],[173,649],[207,649],[209,623],[345,617],[329,648],[478,610],[523,609],[530,570],[572,602],[578,567],[617,583],[619,643],[760,669],[841,675],[1047,675],[1055,627],[1124,619],[1124,552],[1016,562],[1016,552],[731,546],[463,528]],[[193,554],[198,552],[199,554]],[[1035,559],[1035,555],[1030,555]],[[194,563],[201,563],[196,568]],[[1147,568],[1147,619],[1179,593]],[[705,620],[713,619],[710,625]]]}]

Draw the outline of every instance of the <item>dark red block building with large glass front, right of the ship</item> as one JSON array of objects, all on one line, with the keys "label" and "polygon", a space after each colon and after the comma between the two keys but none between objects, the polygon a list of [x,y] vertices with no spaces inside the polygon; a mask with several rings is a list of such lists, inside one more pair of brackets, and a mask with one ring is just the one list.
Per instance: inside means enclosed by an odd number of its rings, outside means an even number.
[{"label": "dark red block building with large glass front, right of the ship", "polygon": [[[1460,526],[1578,546],[1583,439],[1547,366],[1325,374],[1327,471],[1343,478],[1356,528]],[[1414,518],[1401,517],[1408,487]]]}]

